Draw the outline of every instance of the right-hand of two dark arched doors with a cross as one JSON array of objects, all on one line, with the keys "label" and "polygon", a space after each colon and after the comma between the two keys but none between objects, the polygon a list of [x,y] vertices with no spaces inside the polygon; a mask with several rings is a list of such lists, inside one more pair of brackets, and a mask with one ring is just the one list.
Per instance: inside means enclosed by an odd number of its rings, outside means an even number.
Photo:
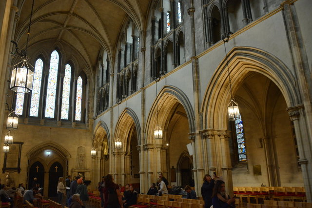
[{"label": "right-hand of two dark arched doors with a cross", "polygon": [[59,177],[64,176],[63,166],[59,162],[55,162],[49,169],[49,197],[58,196],[57,187],[59,183]]}]

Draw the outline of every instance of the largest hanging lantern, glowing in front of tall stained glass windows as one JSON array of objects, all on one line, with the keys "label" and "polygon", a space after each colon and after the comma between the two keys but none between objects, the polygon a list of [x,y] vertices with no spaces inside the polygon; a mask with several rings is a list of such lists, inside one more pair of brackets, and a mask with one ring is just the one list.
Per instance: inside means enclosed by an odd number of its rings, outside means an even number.
[{"label": "largest hanging lantern, glowing in front of tall stained glass windows", "polygon": [[22,57],[21,62],[14,65],[11,76],[10,90],[17,93],[28,93],[33,88],[34,67],[27,57]]}]

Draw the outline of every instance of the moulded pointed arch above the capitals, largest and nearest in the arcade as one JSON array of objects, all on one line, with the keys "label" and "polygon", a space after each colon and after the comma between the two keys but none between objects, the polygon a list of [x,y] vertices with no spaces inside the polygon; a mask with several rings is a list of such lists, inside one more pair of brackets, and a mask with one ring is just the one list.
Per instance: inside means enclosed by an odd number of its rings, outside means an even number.
[{"label": "moulded pointed arch above the capitals, largest and nearest in the arcade", "polygon": [[[252,47],[234,47],[228,54],[228,61],[233,92],[243,82],[247,73],[254,71],[268,77],[277,85],[287,106],[301,104],[300,95],[296,92],[295,77],[286,65],[272,54]],[[224,58],[205,92],[201,107],[204,129],[227,128],[226,107],[231,98],[229,89],[226,59]]]}]

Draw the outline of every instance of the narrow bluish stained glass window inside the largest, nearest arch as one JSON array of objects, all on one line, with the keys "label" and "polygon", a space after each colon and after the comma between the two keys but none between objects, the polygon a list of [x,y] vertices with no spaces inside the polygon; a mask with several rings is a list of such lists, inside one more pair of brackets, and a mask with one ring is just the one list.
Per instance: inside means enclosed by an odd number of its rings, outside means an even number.
[{"label": "narrow bluish stained glass window inside the largest, nearest arch", "polygon": [[239,114],[239,118],[235,120],[235,129],[236,129],[236,139],[237,139],[237,148],[238,148],[238,159],[239,161],[246,161],[246,146],[245,146],[245,136],[244,136],[244,126],[242,118]]}]

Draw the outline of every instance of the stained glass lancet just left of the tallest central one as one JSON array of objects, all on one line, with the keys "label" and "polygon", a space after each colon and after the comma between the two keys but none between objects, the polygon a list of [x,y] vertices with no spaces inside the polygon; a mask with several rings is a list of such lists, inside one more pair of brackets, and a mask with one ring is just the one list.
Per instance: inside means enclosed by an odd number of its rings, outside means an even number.
[{"label": "stained glass lancet just left of the tallest central one", "polygon": [[35,63],[33,90],[31,92],[31,102],[30,102],[30,110],[29,110],[30,116],[35,116],[35,117],[38,116],[42,69],[43,69],[43,62],[41,59],[38,59]]}]

